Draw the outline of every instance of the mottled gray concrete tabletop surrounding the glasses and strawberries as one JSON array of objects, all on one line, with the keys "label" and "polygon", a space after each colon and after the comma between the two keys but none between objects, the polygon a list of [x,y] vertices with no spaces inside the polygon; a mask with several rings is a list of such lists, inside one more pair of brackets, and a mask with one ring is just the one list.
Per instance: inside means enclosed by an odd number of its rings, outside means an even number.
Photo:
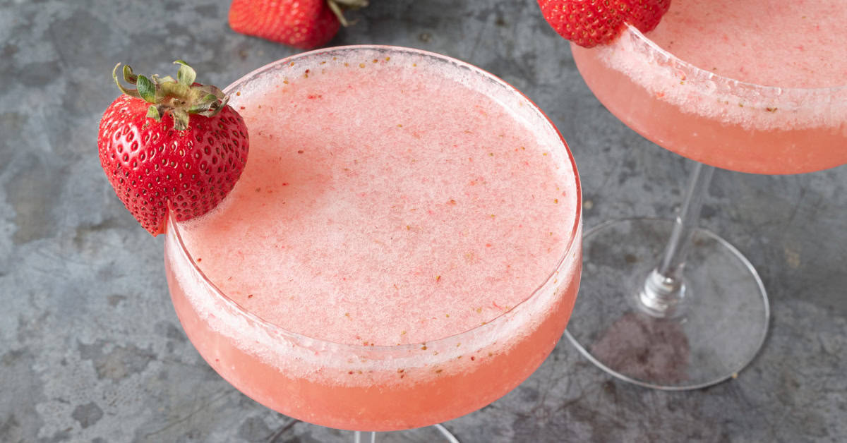
[{"label": "mottled gray concrete tabletop surrounding the glasses and strawberries", "polygon": [[[517,86],[572,147],[587,226],[673,213],[691,164],[606,112],[534,1],[372,3],[332,44],[419,47]],[[0,0],[0,441],[352,440],[291,423],[208,368],[170,305],[163,239],[97,160],[117,62],[164,73],[185,58],[224,86],[293,53],[230,31],[228,4]],[[767,342],[738,379],[647,390],[562,341],[517,390],[446,426],[486,443],[847,441],[847,167],[718,171],[703,225],[747,254],[771,296]]]}]

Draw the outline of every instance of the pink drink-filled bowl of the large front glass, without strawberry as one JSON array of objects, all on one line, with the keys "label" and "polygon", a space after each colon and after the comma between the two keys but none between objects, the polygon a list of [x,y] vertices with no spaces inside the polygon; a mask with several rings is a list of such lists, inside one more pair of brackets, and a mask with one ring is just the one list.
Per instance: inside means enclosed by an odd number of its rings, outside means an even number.
[{"label": "pink drink-filled bowl of the large front glass, without strawberry", "polygon": [[176,312],[224,379],[309,423],[395,430],[544,361],[579,286],[581,201],[529,99],[398,47],[304,53],[227,92],[246,169],[165,242]]}]

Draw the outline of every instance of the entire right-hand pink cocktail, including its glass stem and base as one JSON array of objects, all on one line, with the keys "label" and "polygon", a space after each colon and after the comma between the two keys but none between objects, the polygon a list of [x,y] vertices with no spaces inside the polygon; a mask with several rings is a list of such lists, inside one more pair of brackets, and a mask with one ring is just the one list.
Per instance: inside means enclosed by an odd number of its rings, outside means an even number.
[{"label": "entire right-hand pink cocktail, including its glass stem and base", "polygon": [[612,114],[699,162],[675,220],[586,232],[586,251],[601,257],[586,255],[584,286],[600,296],[576,307],[568,333],[601,368],[695,389],[756,356],[770,315],[764,285],[734,246],[697,228],[700,207],[716,167],[796,174],[847,163],[845,19],[840,0],[673,0],[647,34],[629,27],[606,46],[572,45]]}]

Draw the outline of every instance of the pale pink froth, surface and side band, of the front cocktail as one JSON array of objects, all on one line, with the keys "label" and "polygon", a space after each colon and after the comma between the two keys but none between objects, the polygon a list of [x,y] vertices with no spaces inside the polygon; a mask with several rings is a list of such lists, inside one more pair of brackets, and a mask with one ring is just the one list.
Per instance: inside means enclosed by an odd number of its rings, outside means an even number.
[{"label": "pale pink froth, surface and side band, of the front cocktail", "polygon": [[[341,58],[278,64],[233,91],[251,131],[247,167],[224,204],[180,232],[234,303],[174,259],[185,296],[213,329],[296,373],[329,370],[322,340],[415,344],[397,349],[416,363],[377,365],[395,371],[503,352],[576,272],[577,252],[564,256],[579,191],[560,136],[466,65],[382,50]],[[338,374],[374,369],[347,360]]]}]

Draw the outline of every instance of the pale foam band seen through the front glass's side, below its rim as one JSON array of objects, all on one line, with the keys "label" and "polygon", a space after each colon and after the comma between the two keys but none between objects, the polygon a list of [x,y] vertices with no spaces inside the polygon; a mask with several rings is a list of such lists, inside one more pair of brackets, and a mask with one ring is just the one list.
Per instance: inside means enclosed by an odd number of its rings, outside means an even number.
[{"label": "pale foam band seen through the front glass's side, below its rim", "polygon": [[[581,235],[581,230],[576,234]],[[307,379],[320,385],[384,386],[414,385],[473,371],[493,356],[514,346],[528,346],[534,333],[551,313],[569,313],[579,282],[579,245],[574,246],[529,300],[511,311],[461,335],[402,346],[346,346],[291,334],[268,324],[209,285],[174,235],[165,240],[169,271],[202,323],[224,335],[243,352],[251,354],[291,379]],[[564,306],[562,305],[564,303]],[[544,345],[544,344],[537,344]],[[200,344],[205,349],[206,346]],[[211,350],[221,349],[210,346]],[[237,359],[223,354],[204,354],[210,361],[233,365],[225,368],[238,377]],[[249,374],[245,374],[249,377]],[[230,379],[235,385],[255,380]]]}]

